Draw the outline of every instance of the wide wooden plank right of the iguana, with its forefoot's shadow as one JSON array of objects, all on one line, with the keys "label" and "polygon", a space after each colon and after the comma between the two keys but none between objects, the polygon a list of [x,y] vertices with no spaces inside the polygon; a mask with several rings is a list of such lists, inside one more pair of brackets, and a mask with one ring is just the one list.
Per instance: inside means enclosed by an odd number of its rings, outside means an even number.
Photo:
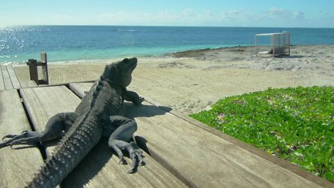
[{"label": "wide wooden plank right of the iguana, with its forefoot's shadow", "polygon": [[[79,86],[76,88],[80,90]],[[84,93],[84,89],[80,93]],[[138,123],[136,135],[143,138],[137,141],[144,140],[150,155],[182,177],[188,185],[321,187],[254,152],[167,113],[164,107],[159,108],[149,102],[143,104],[127,107],[128,116]]]}]

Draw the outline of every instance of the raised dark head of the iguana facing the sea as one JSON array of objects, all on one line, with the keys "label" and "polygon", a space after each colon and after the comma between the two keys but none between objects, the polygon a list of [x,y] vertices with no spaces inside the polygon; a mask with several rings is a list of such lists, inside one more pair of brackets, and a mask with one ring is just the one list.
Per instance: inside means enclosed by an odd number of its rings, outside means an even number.
[{"label": "raised dark head of the iguana facing the sea", "polygon": [[102,79],[106,79],[113,84],[127,87],[132,80],[132,71],[136,68],[137,58],[125,58],[122,61],[106,65]]}]

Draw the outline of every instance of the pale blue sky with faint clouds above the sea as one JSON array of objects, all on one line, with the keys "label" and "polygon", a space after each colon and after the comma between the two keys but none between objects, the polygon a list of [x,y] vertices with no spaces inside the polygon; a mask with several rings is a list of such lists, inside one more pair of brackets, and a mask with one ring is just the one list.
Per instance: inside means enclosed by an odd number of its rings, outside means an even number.
[{"label": "pale blue sky with faint clouds above the sea", "polygon": [[13,25],[334,28],[334,0],[1,0]]}]

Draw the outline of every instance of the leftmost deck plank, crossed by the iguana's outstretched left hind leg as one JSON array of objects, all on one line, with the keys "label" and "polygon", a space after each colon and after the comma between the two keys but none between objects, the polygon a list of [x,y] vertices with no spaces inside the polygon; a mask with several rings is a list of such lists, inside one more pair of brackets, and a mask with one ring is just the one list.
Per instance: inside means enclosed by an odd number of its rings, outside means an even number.
[{"label": "leftmost deck plank, crossed by the iguana's outstretched left hind leg", "polygon": [[[15,90],[0,91],[0,138],[31,130],[19,95]],[[0,149],[0,187],[22,187],[43,164],[40,150],[26,145]],[[25,148],[22,148],[25,147]]]}]

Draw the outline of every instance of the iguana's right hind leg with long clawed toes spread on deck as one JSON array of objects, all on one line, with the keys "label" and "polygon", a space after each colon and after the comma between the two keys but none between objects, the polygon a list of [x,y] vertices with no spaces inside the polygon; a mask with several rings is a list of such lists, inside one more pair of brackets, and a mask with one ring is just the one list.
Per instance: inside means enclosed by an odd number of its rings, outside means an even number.
[{"label": "iguana's right hind leg with long clawed toes spread on deck", "polygon": [[120,162],[123,162],[122,150],[127,150],[132,159],[132,166],[128,173],[133,173],[137,165],[143,164],[143,152],[136,143],[129,142],[137,130],[135,120],[125,118],[123,116],[110,116],[104,118],[103,136],[110,136],[108,145],[115,150],[120,157]]}]

